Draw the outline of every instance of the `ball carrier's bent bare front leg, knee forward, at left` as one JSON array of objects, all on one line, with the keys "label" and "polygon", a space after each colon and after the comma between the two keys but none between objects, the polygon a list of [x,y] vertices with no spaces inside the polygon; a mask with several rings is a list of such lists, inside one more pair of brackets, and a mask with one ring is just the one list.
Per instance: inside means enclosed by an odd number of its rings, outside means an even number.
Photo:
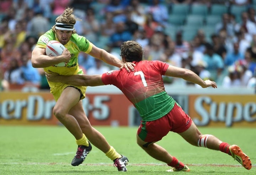
[{"label": "ball carrier's bent bare front leg, knee forward, at left", "polygon": [[53,114],[74,135],[75,139],[81,139],[82,130],[78,121],[68,114],[71,107],[78,103],[80,92],[73,87],[66,87],[53,108]]}]

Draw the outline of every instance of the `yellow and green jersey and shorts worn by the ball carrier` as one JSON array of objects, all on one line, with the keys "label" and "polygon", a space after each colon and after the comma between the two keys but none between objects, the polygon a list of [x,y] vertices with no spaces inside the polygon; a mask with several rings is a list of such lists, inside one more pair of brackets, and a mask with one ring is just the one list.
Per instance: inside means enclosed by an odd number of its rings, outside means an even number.
[{"label": "yellow and green jersey and shorts worn by the ball carrier", "polygon": [[[48,32],[40,36],[40,38],[37,41],[36,47],[46,48],[46,44],[51,41],[56,40],[59,41],[56,34],[53,32],[52,29],[50,29]],[[74,75],[74,74],[84,74],[82,72],[82,69],[79,68],[78,65],[78,54],[79,52],[85,52],[89,53],[92,49],[92,44],[90,41],[88,41],[84,36],[79,36],[78,34],[72,34],[69,42],[64,45],[69,52],[71,53],[71,58],[69,62],[64,67],[57,67],[57,66],[50,66],[45,67],[44,71],[49,72],[48,70],[52,72],[56,72],[60,75]],[[48,84],[50,86],[50,91],[54,96],[55,100],[58,100],[60,94],[62,93],[63,89],[65,87],[69,86],[63,83],[54,83],[48,81]],[[85,91],[86,87],[84,86],[76,86],[78,87],[82,94],[85,97]],[[82,97],[82,98],[84,98]],[[82,99],[81,98],[81,99]]]}]

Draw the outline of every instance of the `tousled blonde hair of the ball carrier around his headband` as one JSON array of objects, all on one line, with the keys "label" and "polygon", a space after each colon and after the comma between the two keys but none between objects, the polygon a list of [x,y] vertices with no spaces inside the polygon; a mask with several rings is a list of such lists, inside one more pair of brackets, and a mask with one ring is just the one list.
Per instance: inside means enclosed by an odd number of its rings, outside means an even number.
[{"label": "tousled blonde hair of the ball carrier around his headband", "polygon": [[[76,21],[82,21],[82,19],[76,17],[74,15],[74,9],[69,7],[65,9],[63,13],[55,19],[55,22],[69,24],[69,25],[75,25]],[[56,24],[54,24],[54,26],[52,27],[53,32],[55,32],[56,30],[55,26]],[[76,33],[75,29],[73,30],[73,33]]]}]

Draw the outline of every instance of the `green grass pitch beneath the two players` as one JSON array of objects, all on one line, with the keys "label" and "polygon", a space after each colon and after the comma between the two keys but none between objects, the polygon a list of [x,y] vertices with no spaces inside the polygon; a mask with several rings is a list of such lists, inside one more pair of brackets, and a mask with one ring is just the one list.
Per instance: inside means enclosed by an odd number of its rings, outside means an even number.
[{"label": "green grass pitch beneath the two players", "polygon": [[[148,156],[136,143],[137,127],[95,127],[110,145],[129,159],[127,172],[118,172],[112,161],[96,147],[79,166],[71,166],[76,152],[74,137],[63,126],[4,126],[0,125],[1,175],[90,174],[127,175],[170,174],[165,163]],[[199,128],[203,134],[213,134],[220,140],[236,144],[251,158],[253,167],[244,169],[232,157],[220,151],[188,144],[178,134],[170,132],[158,142],[173,156],[187,164],[190,172],[171,174],[193,175],[255,175],[256,139],[254,128]]]}]

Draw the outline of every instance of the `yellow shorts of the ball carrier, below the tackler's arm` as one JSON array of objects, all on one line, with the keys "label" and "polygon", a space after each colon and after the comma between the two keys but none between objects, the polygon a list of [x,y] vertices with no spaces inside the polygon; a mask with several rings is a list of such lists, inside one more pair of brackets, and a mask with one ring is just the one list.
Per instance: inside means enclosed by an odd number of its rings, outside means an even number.
[{"label": "yellow shorts of the ball carrier, below the tackler's arm", "polygon": [[85,98],[85,91],[86,91],[87,86],[73,86],[70,84],[50,82],[50,92],[53,94],[55,101],[57,101],[59,99],[62,91],[68,86],[74,87],[75,89],[80,91],[80,93],[81,93],[80,100]]}]

